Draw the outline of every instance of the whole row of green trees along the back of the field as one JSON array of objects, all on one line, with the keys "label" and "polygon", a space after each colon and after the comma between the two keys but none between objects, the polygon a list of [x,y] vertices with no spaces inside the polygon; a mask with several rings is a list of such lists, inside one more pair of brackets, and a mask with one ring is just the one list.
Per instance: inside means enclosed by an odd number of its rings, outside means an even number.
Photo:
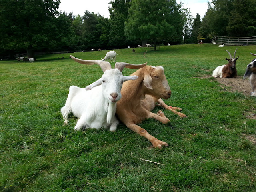
[{"label": "whole row of green trees along the back of the field", "polygon": [[256,36],[255,0],[212,0],[204,18],[176,0],[111,0],[110,18],[59,12],[61,0],[0,0],[0,54],[211,42]]}]

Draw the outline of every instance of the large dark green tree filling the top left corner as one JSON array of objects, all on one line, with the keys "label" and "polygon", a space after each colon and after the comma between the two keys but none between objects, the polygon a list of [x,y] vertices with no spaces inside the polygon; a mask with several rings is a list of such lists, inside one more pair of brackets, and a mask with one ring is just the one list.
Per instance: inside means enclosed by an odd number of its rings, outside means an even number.
[{"label": "large dark green tree filling the top left corner", "polygon": [[[8,51],[54,49],[71,40],[71,22],[57,11],[60,0],[1,0],[0,48]],[[70,32],[70,34],[68,34]]]}]

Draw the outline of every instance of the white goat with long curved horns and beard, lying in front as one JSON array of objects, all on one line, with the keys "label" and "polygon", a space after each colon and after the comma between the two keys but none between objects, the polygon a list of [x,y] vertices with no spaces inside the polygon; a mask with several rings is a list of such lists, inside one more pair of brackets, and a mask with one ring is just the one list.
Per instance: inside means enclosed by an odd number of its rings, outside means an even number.
[{"label": "white goat with long curved horns and beard, lying in front", "polygon": [[124,67],[138,69],[147,63],[133,65],[128,63],[116,63],[115,69],[111,68],[109,62],[100,60],[81,60],[70,56],[73,60],[81,64],[98,64],[104,74],[100,79],[86,88],[70,86],[66,104],[61,108],[64,124],[68,124],[68,114],[80,118],[75,130],[81,128],[110,128],[115,131],[119,124],[115,117],[116,102],[121,99],[121,88],[124,81],[135,80],[138,76],[123,76]]}]

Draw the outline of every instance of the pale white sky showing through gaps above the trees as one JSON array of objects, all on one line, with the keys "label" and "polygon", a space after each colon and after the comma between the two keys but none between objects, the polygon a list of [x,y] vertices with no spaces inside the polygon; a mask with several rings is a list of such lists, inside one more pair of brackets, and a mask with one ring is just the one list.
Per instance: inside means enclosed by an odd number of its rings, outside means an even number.
[{"label": "pale white sky showing through gaps above the trees", "polygon": [[[211,0],[176,0],[177,3],[180,3],[180,1],[184,3],[185,8],[190,9],[193,16],[199,13],[201,18],[204,17],[207,11],[207,2],[211,2]],[[66,13],[73,12],[73,15],[79,14],[80,16],[83,16],[84,12],[88,10],[89,12],[99,13],[105,18],[109,18],[109,2],[110,0],[61,0],[59,10]]]}]

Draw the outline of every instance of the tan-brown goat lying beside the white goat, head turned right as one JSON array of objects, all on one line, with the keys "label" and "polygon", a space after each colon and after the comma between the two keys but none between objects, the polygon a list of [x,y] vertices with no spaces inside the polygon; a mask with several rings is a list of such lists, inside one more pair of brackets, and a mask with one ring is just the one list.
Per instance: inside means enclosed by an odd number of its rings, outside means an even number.
[{"label": "tan-brown goat lying beside the white goat, head turned right", "polygon": [[132,75],[137,75],[138,79],[133,82],[124,82],[121,90],[122,98],[117,102],[116,114],[119,120],[140,136],[147,138],[154,147],[168,146],[166,142],[158,140],[137,125],[148,118],[154,118],[164,124],[170,121],[161,110],[156,114],[151,112],[156,106],[156,102],[180,117],[186,117],[185,114],[176,111],[181,108],[168,106],[160,99],[168,99],[171,96],[164,68],[162,66],[145,66]]}]

